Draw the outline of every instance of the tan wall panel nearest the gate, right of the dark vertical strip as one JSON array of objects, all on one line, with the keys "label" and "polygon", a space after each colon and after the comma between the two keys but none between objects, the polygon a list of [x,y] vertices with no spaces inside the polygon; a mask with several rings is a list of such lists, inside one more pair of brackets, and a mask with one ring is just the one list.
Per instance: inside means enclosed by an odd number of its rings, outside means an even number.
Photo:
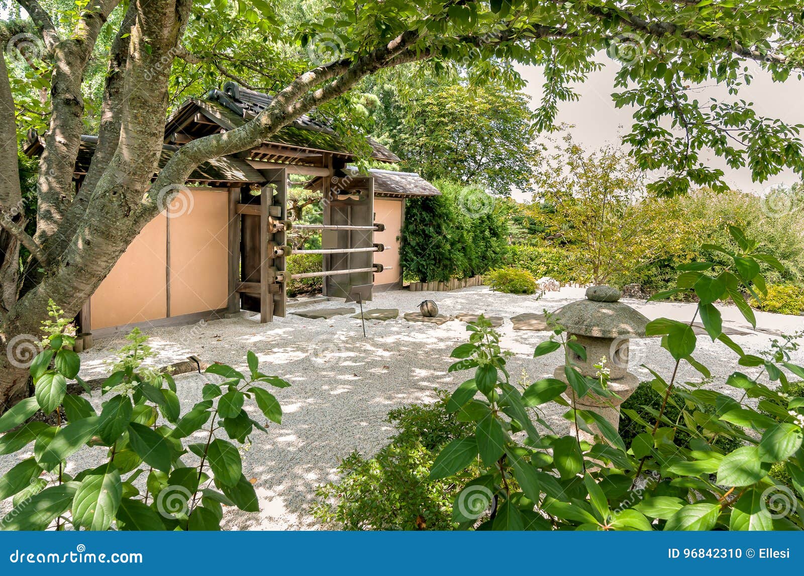
[{"label": "tan wall panel nearest the gate, right of the dark vertical strip", "polygon": [[170,316],[226,308],[228,199],[193,192],[192,210],[170,219]]}]

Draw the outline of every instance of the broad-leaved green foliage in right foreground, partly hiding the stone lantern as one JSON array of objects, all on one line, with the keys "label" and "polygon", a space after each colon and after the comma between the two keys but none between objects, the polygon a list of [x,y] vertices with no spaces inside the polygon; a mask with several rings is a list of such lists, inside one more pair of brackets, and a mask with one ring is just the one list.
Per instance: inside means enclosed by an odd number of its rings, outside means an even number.
[{"label": "broad-leaved green foliage in right foreground, partly hiding the stone lantern", "polygon": [[[766,353],[746,354],[723,333],[714,304],[731,299],[753,325],[753,311],[740,288],[764,293],[759,262],[781,265],[758,251],[757,243],[740,229],[732,227],[730,234],[739,251],[712,249],[727,254],[731,263],[682,267],[676,290],[692,292],[699,299],[695,317],[703,321],[708,338],[735,353],[737,365],[761,370],[753,378],[740,371],[731,374],[725,384],[733,397],[703,387],[676,386],[682,362],[704,378],[710,376],[692,357],[698,344],[691,327],[694,319],[689,323],[650,321],[647,334],[662,337],[662,348],[675,360],[675,369],[667,379],[652,370],[654,382],[664,391],[663,407],[652,414],[652,426],[645,422],[646,431],[636,435],[630,446],[592,411],[571,406],[564,417],[593,435],[594,442],[551,433],[539,417],[538,406],[546,402],[566,404],[560,397],[563,393],[576,398],[612,394],[605,373],[589,378],[572,365],[571,351],[577,346],[559,326],[535,355],[563,349],[566,382],[544,378],[522,391],[510,382],[506,353],[490,323],[480,318],[467,327],[469,342],[453,350],[457,362],[449,371],[474,370],[474,378],[453,393],[447,410],[474,422],[474,435],[449,443],[431,468],[431,477],[439,478],[473,462],[480,467],[478,476],[454,500],[453,517],[461,528],[802,529],[798,510],[804,498],[804,398],[790,395],[794,389],[787,375],[800,378],[804,374],[804,367],[790,362],[796,345],[789,337],[774,342]],[[778,389],[759,382],[761,376],[779,382]],[[474,398],[474,392],[485,398]],[[683,401],[676,421],[666,413],[671,394],[675,394],[674,402],[676,397]],[[678,431],[688,438],[679,441]],[[732,449],[735,444],[718,443],[719,438],[742,445]],[[772,466],[780,463],[790,472],[795,492],[769,475]],[[473,485],[486,488],[487,507],[469,515],[466,493]],[[781,513],[771,500],[777,493],[786,500]]]}]

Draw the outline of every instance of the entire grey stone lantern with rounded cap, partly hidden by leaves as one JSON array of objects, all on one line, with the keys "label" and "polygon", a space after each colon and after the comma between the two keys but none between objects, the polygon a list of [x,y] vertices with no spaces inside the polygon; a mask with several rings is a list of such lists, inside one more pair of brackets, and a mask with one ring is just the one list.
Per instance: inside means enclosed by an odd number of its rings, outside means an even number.
[{"label": "entire grey stone lantern with rounded cap, partly hidden by leaves", "polygon": [[[568,335],[574,335],[576,342],[586,350],[586,360],[582,360],[572,349],[572,363],[584,376],[597,378],[598,369],[605,357],[605,368],[609,370],[608,390],[617,396],[601,398],[592,392],[583,398],[575,398],[572,388],[567,389],[567,398],[579,410],[597,412],[612,423],[620,425],[620,404],[634,394],[639,378],[628,371],[630,338],[645,337],[648,319],[634,308],[622,304],[620,291],[611,286],[592,286],[586,290],[586,299],[572,302],[556,310],[556,321],[564,327]],[[564,366],[556,368],[555,377],[567,382]],[[592,430],[597,427],[590,425]],[[572,427],[572,435],[580,439],[592,440],[589,433]]]}]

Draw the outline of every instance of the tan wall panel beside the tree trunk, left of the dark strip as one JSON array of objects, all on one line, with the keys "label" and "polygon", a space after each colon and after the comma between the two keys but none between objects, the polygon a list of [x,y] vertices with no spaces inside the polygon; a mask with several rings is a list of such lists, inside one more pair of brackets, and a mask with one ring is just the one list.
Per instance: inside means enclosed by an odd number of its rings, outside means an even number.
[{"label": "tan wall panel beside the tree trunk, left of the dark strip", "polygon": [[92,329],[164,318],[167,218],[159,214],[134,239],[90,299]]}]

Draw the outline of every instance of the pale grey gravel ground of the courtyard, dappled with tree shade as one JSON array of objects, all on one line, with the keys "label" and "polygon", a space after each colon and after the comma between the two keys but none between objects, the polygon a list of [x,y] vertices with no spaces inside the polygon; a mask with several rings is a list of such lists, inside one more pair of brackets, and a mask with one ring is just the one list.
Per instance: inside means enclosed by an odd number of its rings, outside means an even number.
[{"label": "pale grey gravel ground of the courtyard, dappled with tree shade", "polygon": [[[314,490],[335,478],[338,460],[353,450],[373,454],[383,446],[393,429],[385,421],[389,410],[413,402],[432,402],[438,388],[453,390],[464,374],[447,374],[449,353],[455,345],[466,341],[465,325],[449,321],[444,325],[404,321],[402,313],[418,309],[421,300],[435,300],[441,313],[486,313],[505,319],[500,332],[502,344],[515,353],[509,361],[511,375],[527,374],[533,382],[552,374],[560,362],[557,353],[533,358],[535,345],[548,333],[514,330],[510,318],[519,313],[554,310],[572,300],[582,298],[583,288],[563,288],[549,292],[543,299],[490,292],[488,288],[464,288],[453,292],[384,292],[366,308],[399,308],[400,318],[391,321],[367,321],[367,337],[363,338],[359,320],[348,316],[331,320],[307,320],[288,314],[272,324],[261,325],[259,317],[237,317],[191,326],[150,329],[149,344],[158,352],[154,364],[162,366],[195,354],[206,362],[224,362],[245,367],[247,350],[260,359],[260,370],[276,374],[293,386],[272,390],[284,412],[281,425],[272,425],[268,435],[259,431],[253,444],[244,452],[244,473],[256,478],[260,497],[260,513],[230,511],[224,518],[228,529],[316,529],[309,514]],[[623,300],[647,317],[671,317],[689,321],[692,304],[645,304]],[[352,305],[352,304],[347,304]],[[343,306],[343,301],[314,304],[310,308]],[[304,309],[304,308],[297,308]],[[791,333],[804,329],[804,318],[757,313],[754,332],[734,307],[723,309],[724,325],[751,333],[732,337],[746,352],[767,349],[773,333]],[[761,330],[765,330],[762,332]],[[120,338],[96,342],[81,354],[84,378],[106,374],[109,352],[122,345]],[[660,374],[669,374],[673,362],[659,347],[658,339],[632,341],[632,358],[648,362]],[[695,357],[707,365],[715,378],[712,387],[722,389],[733,370],[734,356],[723,345],[699,338]],[[795,358],[804,362],[804,353]],[[633,364],[634,362],[632,362]],[[635,368],[641,377],[644,369]],[[745,369],[744,369],[745,371]],[[699,379],[688,367],[681,378]],[[185,374],[176,378],[178,394],[187,409],[201,396],[207,378]],[[97,394],[93,394],[97,396]],[[99,405],[99,398],[92,398]],[[560,414],[561,406],[547,406],[546,419],[556,431],[567,427]],[[80,470],[98,462],[103,449],[86,448],[71,458],[70,470]],[[18,456],[0,457],[0,473],[16,464]],[[8,503],[0,503],[0,509]]]}]

